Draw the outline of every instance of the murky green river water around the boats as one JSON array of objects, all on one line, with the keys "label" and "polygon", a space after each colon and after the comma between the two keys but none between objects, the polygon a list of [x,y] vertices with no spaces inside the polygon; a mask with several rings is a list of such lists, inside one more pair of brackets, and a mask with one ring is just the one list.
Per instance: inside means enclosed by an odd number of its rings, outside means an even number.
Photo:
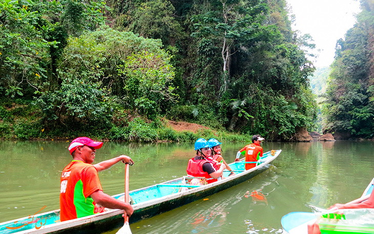
[{"label": "murky green river water around the boats", "polygon": [[[71,161],[65,141],[0,142],[0,222],[59,208],[59,177]],[[224,143],[226,162],[245,143]],[[266,172],[232,188],[130,225],[140,233],[281,233],[282,216],[328,207],[361,196],[374,176],[370,141],[264,142],[264,152],[282,153]],[[125,154],[133,158],[130,190],[185,175],[193,143],[113,143],[97,150],[95,162]],[[99,173],[104,192],[124,190],[124,166]],[[257,190],[266,201],[247,193]],[[115,233],[117,230],[106,233]]]}]

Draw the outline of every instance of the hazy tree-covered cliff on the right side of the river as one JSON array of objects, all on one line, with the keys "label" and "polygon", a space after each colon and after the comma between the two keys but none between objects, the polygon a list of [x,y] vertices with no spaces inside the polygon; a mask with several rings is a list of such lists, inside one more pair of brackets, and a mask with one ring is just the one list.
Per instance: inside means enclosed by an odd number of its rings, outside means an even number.
[{"label": "hazy tree-covered cliff on the right side of the river", "polygon": [[356,25],[337,42],[324,96],[324,133],[336,139],[374,136],[374,2],[360,3]]}]

